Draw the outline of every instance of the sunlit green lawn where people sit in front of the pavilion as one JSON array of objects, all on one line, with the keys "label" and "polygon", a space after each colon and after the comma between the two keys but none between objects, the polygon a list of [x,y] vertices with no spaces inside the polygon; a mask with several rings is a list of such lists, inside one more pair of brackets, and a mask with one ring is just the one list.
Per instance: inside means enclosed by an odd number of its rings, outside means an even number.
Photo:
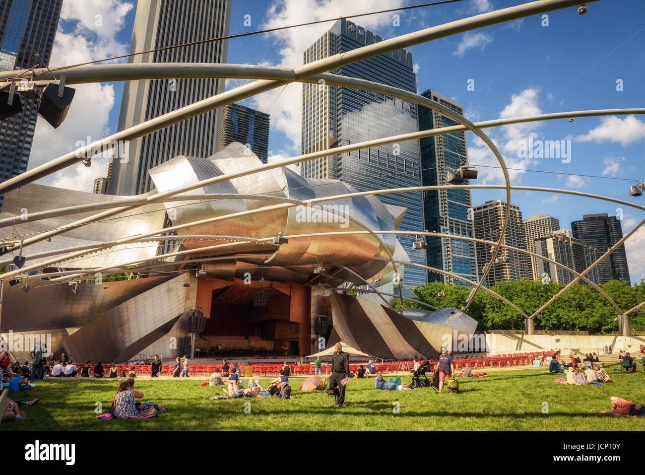
[{"label": "sunlit green lawn where people sit in front of the pavilion", "polygon": [[[199,387],[205,378],[137,379],[144,401],[166,407],[149,419],[95,419],[97,403],[111,404],[118,386],[110,379],[48,379],[10,398],[41,400],[23,421],[4,421],[2,430],[643,430],[645,418],[615,418],[591,412],[609,409],[610,396],[645,402],[643,372],[608,368],[614,383],[573,386],[553,383],[539,369],[489,372],[488,378],[459,378],[461,394],[428,388],[385,391],[373,379],[352,379],[345,407],[333,407],[322,391],[301,392],[290,378],[292,399],[242,398],[211,401],[223,387]],[[404,376],[410,381],[410,376]],[[264,386],[269,378],[261,378]],[[250,414],[244,403],[250,402]],[[399,413],[395,414],[396,404]],[[542,412],[548,403],[548,414]]]}]

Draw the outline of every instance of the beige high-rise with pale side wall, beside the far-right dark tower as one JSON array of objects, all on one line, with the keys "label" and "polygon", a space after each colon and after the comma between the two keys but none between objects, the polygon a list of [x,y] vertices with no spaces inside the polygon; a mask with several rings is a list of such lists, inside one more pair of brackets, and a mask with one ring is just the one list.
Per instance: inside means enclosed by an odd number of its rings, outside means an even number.
[{"label": "beige high-rise with pale side wall, beside the far-right dark tower", "polygon": [[[535,254],[565,265],[578,273],[585,270],[598,258],[597,248],[580,239],[571,237],[571,231],[568,229],[558,230],[552,232],[550,236],[537,238],[533,241],[533,245],[535,245]],[[575,278],[571,272],[563,270],[550,262],[537,258],[533,260],[535,260],[539,278],[546,276],[551,281],[563,284],[568,284]],[[597,267],[591,269],[585,277],[595,284],[600,283]]]}]

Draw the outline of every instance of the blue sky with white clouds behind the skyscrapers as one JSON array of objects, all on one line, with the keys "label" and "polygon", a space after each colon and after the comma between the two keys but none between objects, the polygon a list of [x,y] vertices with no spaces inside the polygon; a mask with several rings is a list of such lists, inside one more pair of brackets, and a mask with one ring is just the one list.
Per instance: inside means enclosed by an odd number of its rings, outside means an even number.
[{"label": "blue sky with white clouds behind the skyscrapers", "polygon": [[[344,0],[233,0],[230,32],[237,34],[414,3],[421,2],[356,0],[348,6]],[[400,26],[393,26],[392,13],[355,21],[382,37],[390,38],[519,3],[522,2],[464,0],[406,10],[399,12]],[[136,2],[132,0],[65,0],[52,63],[76,63],[128,52],[135,7]],[[102,15],[101,26],[95,25],[97,14]],[[244,26],[244,15],[251,15],[250,27]],[[233,39],[229,43],[228,62],[300,65],[304,48],[332,23]],[[419,92],[432,88],[459,101],[464,105],[466,117],[473,121],[568,110],[645,106],[642,83],[645,75],[645,30],[626,41],[645,26],[645,2],[602,0],[591,3],[585,15],[578,15],[575,8],[568,8],[551,12],[548,26],[543,26],[544,23],[544,19],[537,15],[409,48],[418,68]],[[624,41],[626,43],[621,45]],[[622,80],[622,90],[617,90],[619,79]],[[474,90],[467,90],[469,80],[474,83]],[[243,81],[228,81],[227,88],[241,83]],[[244,101],[246,105],[272,116],[269,148],[274,159],[300,152],[299,87],[288,86],[277,100],[279,91]],[[43,121],[39,122],[30,167],[73,150],[75,141],[86,136],[94,139],[101,134],[115,132],[122,90],[121,83],[79,87],[89,108],[72,106],[68,120],[57,130],[55,137],[45,131]],[[88,110],[94,112],[89,114],[91,117],[88,117]],[[584,190],[645,205],[645,197],[628,196],[629,185],[645,178],[645,117],[609,120],[590,117],[575,119],[573,123],[546,121],[487,129],[486,133],[495,141],[509,167],[572,174],[513,171],[513,183]],[[55,147],[45,147],[45,138],[39,139],[39,135],[52,138]],[[561,158],[519,157],[519,145],[531,136],[534,141],[570,140],[570,161],[562,163]],[[468,147],[470,162],[482,166],[478,182],[501,183],[497,168],[483,167],[497,165],[497,161],[488,148],[470,133]],[[106,164],[97,161],[91,170],[81,167],[65,170],[45,182],[84,189],[87,183],[91,186],[94,177],[104,176],[101,167],[106,167]],[[602,177],[580,177],[580,174]],[[473,205],[503,197],[502,191],[475,190]],[[617,214],[618,208],[613,203],[588,198],[519,191],[513,192],[512,201],[521,207],[525,218],[533,214],[552,214],[559,217],[562,228],[570,228],[571,221],[581,219],[583,214]],[[618,212],[620,214],[621,211]],[[624,208],[622,216],[623,230],[626,231],[642,219],[642,212]],[[645,244],[642,230],[628,241],[627,246],[632,281],[645,277],[645,250],[640,250],[641,244]]]}]

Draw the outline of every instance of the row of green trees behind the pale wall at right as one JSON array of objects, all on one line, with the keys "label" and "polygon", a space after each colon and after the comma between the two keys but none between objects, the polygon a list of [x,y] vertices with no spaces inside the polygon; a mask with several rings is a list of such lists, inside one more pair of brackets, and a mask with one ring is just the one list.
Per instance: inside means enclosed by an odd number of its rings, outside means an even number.
[{"label": "row of green trees behind the pale wall at right", "polygon": [[[630,287],[620,281],[599,285],[623,310],[630,310],[645,301],[645,281]],[[493,292],[513,302],[530,315],[560,292],[560,283],[542,284],[540,281],[501,281],[491,287]],[[468,298],[470,287],[428,282],[424,287],[411,289],[422,302],[437,308],[461,308]],[[394,307],[401,308],[397,299]],[[404,308],[426,307],[404,301]],[[524,317],[513,307],[481,290],[468,308],[468,314],[479,321],[478,330],[522,330]],[[542,319],[535,320],[536,330],[587,330],[605,333],[618,330],[614,321],[618,312],[611,303],[589,285],[573,285],[542,312]],[[632,328],[645,328],[645,316],[637,312],[630,315]]]}]

